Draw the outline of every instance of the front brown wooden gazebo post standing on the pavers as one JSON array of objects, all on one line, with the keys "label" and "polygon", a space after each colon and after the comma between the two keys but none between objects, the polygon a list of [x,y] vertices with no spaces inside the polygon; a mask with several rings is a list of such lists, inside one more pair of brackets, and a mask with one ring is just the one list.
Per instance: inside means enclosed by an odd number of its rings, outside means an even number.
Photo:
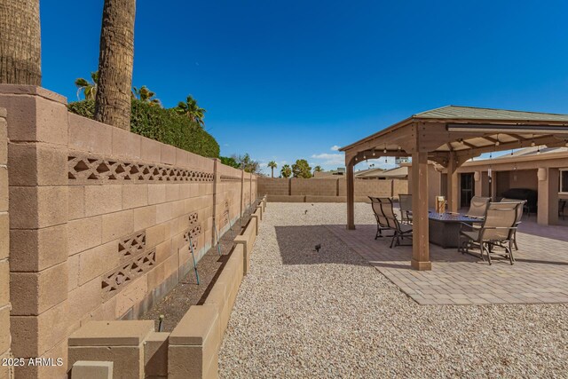
[{"label": "front brown wooden gazebo post standing on the pavers", "polygon": [[414,270],[431,270],[428,238],[428,153],[412,154],[412,213],[413,242],[412,261]]}]

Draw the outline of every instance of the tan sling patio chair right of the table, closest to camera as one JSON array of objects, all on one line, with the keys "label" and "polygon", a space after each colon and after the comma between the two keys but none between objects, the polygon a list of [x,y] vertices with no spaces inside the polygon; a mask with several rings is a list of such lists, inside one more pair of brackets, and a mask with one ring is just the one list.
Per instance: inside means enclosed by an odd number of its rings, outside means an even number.
[{"label": "tan sling patio chair right of the table, closest to camera", "polygon": [[460,248],[462,254],[472,254],[470,249],[479,249],[480,257],[485,261],[487,256],[489,265],[492,264],[492,254],[498,254],[495,249],[504,249],[502,257],[509,258],[511,265],[515,263],[511,243],[513,234],[517,230],[517,209],[519,202],[490,202],[485,211],[485,220],[480,228],[472,228],[471,225],[461,223]]}]

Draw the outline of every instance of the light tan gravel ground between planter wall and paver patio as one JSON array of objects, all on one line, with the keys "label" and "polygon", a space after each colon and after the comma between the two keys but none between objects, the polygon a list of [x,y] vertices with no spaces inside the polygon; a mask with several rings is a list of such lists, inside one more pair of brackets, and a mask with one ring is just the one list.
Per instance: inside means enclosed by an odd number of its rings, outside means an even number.
[{"label": "light tan gravel ground between planter wall and paver patio", "polygon": [[344,223],[345,204],[268,204],[221,377],[568,377],[568,304],[418,305],[322,226]]}]

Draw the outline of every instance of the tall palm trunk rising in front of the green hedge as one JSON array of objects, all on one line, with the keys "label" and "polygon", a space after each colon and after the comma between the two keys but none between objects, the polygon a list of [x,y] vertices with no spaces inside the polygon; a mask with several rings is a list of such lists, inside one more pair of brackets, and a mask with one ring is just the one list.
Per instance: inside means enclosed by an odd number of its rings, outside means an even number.
[{"label": "tall palm trunk rising in front of the green hedge", "polygon": [[136,0],[105,0],[95,120],[130,130]]}]

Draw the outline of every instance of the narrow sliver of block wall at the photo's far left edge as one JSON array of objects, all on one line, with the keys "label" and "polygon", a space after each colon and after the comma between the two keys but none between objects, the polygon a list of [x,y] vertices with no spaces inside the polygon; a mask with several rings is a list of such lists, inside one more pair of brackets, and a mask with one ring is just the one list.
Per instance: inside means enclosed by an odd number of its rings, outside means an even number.
[{"label": "narrow sliver of block wall at the photo's far left edge", "polygon": [[11,358],[10,343],[10,225],[8,219],[8,129],[6,110],[0,108],[0,377],[12,377],[12,367],[2,366]]}]

